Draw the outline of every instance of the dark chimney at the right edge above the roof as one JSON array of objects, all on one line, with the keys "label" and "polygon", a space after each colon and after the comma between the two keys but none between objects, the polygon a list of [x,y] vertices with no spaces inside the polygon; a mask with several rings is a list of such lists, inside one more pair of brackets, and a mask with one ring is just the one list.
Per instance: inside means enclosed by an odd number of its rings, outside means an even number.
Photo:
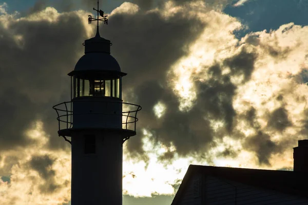
[{"label": "dark chimney at the right edge above the roof", "polygon": [[298,140],[298,147],[293,149],[293,170],[296,172],[308,172],[308,139]]}]

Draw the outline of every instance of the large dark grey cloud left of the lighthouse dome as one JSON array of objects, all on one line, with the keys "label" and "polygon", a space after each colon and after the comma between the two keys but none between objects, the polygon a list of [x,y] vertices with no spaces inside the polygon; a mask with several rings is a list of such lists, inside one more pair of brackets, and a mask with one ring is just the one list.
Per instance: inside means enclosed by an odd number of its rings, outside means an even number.
[{"label": "large dark grey cloud left of the lighthouse dome", "polygon": [[[53,23],[24,19],[8,29],[0,24],[0,31],[1,150],[30,145],[25,131],[37,119],[43,120],[50,134],[51,148],[65,146],[57,137],[51,106],[69,99],[66,74],[73,70],[85,39],[79,17],[67,13]],[[14,35],[22,36],[20,43]]]}]

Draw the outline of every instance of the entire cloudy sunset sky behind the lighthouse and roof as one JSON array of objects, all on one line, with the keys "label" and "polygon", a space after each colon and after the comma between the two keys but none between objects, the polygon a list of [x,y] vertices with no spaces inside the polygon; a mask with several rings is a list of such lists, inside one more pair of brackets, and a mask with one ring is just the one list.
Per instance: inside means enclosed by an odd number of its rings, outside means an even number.
[{"label": "entire cloudy sunset sky behind the lighthouse and roof", "polygon": [[[123,100],[123,204],[170,204],[190,164],[293,170],[308,133],[308,1],[101,0]],[[52,106],[93,37],[96,1],[0,1],[0,204],[70,204]]]}]

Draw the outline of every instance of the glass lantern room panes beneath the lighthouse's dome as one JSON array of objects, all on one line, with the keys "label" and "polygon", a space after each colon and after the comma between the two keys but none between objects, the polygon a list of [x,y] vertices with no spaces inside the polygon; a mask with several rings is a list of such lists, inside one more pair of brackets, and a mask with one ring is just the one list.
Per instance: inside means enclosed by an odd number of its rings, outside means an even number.
[{"label": "glass lantern room panes beneath the lighthouse's dome", "polygon": [[72,81],[72,89],[74,97],[97,96],[97,97],[117,97],[121,95],[122,79],[82,79],[74,76]]}]

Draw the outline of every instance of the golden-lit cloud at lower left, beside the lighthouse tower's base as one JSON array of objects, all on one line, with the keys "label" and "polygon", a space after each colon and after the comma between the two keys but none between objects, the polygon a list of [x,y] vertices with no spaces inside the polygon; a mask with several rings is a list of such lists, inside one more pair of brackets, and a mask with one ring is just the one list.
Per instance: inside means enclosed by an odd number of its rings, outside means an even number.
[{"label": "golden-lit cloud at lower left, beside the lighthouse tower's base", "polygon": [[68,203],[70,154],[46,149],[48,136],[43,131],[42,123],[37,123],[26,135],[29,139],[35,139],[36,143],[2,150],[0,203]]}]

